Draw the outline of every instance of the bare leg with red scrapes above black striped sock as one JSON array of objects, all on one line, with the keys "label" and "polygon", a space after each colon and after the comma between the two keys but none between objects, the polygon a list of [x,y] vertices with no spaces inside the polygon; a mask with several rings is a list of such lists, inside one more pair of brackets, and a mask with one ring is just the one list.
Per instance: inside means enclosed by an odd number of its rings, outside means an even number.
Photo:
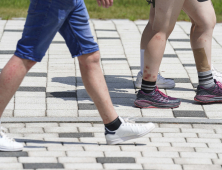
[{"label": "bare leg with red scrapes above black striped sock", "polygon": [[148,32],[150,40],[145,46],[143,79],[146,81],[157,80],[167,38],[175,26],[183,3],[184,0],[156,0],[152,29]]}]

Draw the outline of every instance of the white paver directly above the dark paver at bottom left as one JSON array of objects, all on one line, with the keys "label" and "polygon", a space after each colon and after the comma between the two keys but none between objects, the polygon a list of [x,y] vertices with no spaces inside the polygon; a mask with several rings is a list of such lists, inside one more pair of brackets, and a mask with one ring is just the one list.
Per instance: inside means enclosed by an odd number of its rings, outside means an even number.
[{"label": "white paver directly above the dark paver at bottom left", "polygon": [[20,163],[57,163],[56,157],[19,157],[18,161]]}]

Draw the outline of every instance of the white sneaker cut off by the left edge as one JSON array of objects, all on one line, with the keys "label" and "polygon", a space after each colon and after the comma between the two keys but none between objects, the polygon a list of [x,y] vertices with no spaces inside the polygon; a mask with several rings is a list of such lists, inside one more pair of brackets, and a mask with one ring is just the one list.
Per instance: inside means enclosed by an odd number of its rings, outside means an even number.
[{"label": "white sneaker cut off by the left edge", "polygon": [[0,131],[0,151],[21,151],[23,145],[11,139],[5,134],[6,129],[1,127]]}]

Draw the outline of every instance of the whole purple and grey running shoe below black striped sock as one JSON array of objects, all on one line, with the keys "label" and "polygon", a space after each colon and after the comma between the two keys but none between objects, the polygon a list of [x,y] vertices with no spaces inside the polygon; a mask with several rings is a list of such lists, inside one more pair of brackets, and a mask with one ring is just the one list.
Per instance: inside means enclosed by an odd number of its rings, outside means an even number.
[{"label": "whole purple and grey running shoe below black striped sock", "polygon": [[180,99],[169,97],[156,87],[148,94],[140,90],[134,104],[140,108],[176,108],[180,105]]}]

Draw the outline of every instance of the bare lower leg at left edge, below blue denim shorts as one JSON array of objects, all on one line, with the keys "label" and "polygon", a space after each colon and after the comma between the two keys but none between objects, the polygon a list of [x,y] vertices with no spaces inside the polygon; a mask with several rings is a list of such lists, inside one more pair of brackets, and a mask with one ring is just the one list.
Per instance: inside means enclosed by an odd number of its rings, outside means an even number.
[{"label": "bare lower leg at left edge, below blue denim shorts", "polygon": [[0,74],[0,116],[26,73],[36,62],[13,56]]}]

